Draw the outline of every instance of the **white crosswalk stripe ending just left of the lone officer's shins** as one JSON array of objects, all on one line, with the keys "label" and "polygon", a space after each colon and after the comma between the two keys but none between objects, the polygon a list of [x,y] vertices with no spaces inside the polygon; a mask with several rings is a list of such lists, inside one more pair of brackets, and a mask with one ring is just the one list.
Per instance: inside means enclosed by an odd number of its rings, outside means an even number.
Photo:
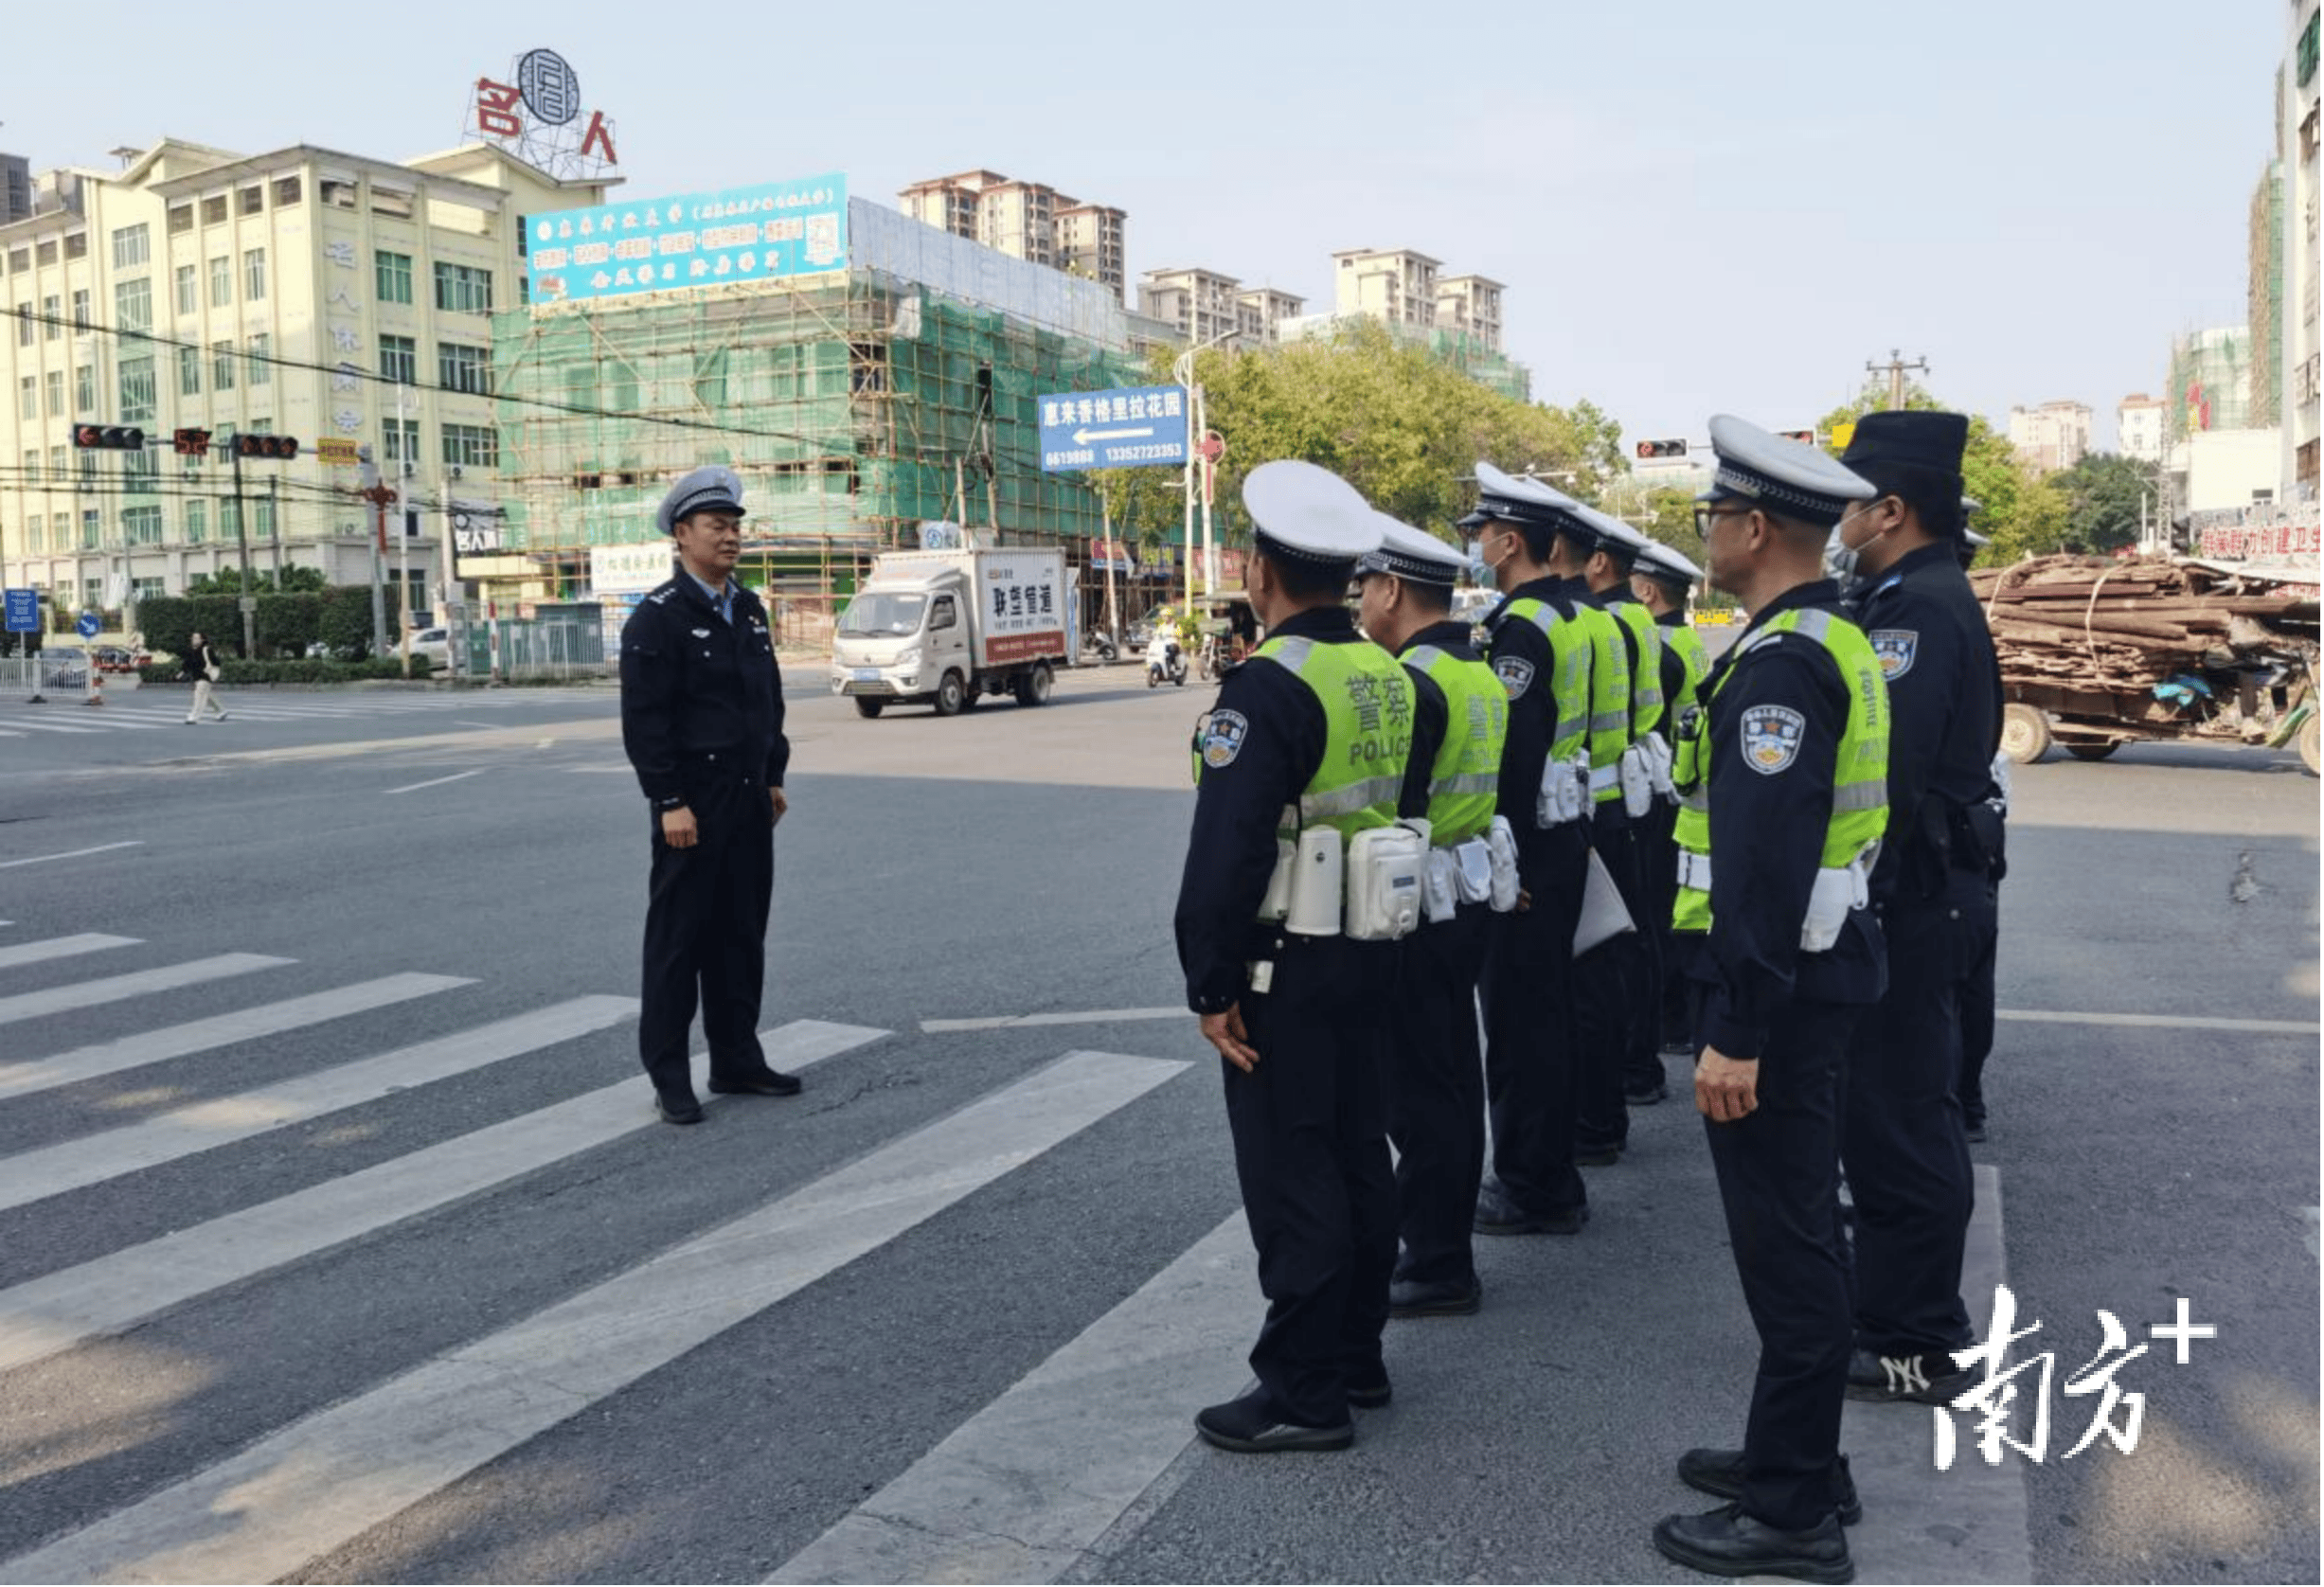
[{"label": "white crosswalk stripe ending just left of the lone officer's shins", "polygon": [[0,1211],[102,1185],[163,1162],[193,1157],[281,1125],[342,1113],[400,1090],[449,1080],[521,1053],[618,1025],[637,1013],[634,997],[574,997],[476,1029],[437,1036],[411,1048],[360,1057],[353,1064],[281,1080],[237,1097],[195,1101],[170,1113],[0,1157]]}]

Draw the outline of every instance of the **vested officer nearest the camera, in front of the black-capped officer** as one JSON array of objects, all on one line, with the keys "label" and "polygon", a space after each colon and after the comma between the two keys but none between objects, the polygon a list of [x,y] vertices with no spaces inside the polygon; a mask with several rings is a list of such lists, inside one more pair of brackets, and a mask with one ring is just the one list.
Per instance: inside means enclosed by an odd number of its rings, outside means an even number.
[{"label": "vested officer nearest the camera, in front of the black-capped officer", "polygon": [[1678,927],[1701,1001],[1694,1106],[1759,1334],[1741,1450],[1687,1450],[1683,1482],[1729,1499],[1671,1515],[1655,1547],[1713,1575],[1855,1580],[1841,1459],[1850,1306],[1838,1245],[1848,1032],[1880,997],[1864,906],[1887,799],[1887,690],[1820,579],[1827,530],[1873,488],[1824,453],[1720,414],[1697,511],[1710,583],[1750,627],[1678,746]]}]

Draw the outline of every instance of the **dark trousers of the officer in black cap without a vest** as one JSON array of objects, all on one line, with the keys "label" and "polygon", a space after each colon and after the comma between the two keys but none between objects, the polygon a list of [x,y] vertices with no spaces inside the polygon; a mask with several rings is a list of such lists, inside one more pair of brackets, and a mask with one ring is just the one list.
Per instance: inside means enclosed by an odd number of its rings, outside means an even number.
[{"label": "dark trousers of the officer in black cap without a vest", "polygon": [[1857,1025],[1841,1157],[1857,1204],[1857,1343],[1875,1355],[1959,1350],[1968,1238],[1959,988],[1975,957],[1982,876],[1957,871],[1934,899],[1894,899],[1887,997]]}]

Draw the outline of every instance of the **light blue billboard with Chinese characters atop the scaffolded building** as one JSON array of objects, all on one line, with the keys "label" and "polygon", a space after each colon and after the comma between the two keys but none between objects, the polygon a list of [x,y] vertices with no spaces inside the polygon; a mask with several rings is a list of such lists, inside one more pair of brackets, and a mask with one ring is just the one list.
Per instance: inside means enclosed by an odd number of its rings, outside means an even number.
[{"label": "light blue billboard with Chinese characters atop the scaffolded building", "polygon": [[525,216],[532,302],[779,281],[848,265],[848,179],[769,181]]}]

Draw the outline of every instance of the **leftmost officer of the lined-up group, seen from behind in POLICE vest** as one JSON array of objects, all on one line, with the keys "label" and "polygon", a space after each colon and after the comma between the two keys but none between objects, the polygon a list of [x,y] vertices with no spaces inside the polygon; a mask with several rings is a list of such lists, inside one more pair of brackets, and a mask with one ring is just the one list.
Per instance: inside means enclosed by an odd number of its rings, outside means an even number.
[{"label": "leftmost officer of the lined-up group, seen from behind in POLICE vest", "polygon": [[1320,878],[1329,909],[1294,890],[1287,918],[1274,876],[1278,843],[1299,853],[1320,839],[1336,855],[1397,823],[1413,683],[1346,609],[1355,560],[1380,544],[1355,488],[1308,462],[1264,462],[1243,507],[1267,644],[1227,672],[1197,737],[1176,932],[1188,1006],[1222,1060],[1267,1322],[1250,1350],[1260,1387],[1204,1408],[1195,1431],[1248,1455],[1343,1450],[1348,1406],[1390,1396],[1380,1331],[1397,1180],[1378,999],[1397,943],[1336,932],[1336,871]]}]

